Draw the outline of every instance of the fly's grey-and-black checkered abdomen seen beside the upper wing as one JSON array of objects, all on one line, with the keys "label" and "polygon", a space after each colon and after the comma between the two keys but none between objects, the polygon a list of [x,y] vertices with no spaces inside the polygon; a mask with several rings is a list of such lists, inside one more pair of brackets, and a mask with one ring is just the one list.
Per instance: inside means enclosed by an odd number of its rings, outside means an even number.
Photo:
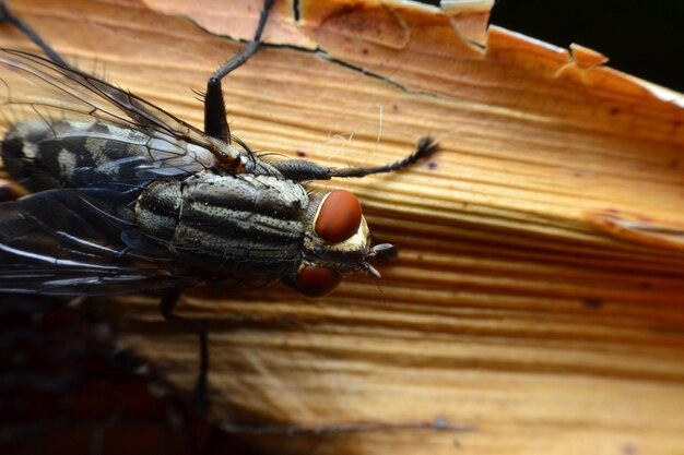
[{"label": "fly's grey-and-black checkered abdomen seen beside the upper wing", "polygon": [[[164,132],[103,121],[26,121],[16,123],[2,143],[12,177],[32,191],[55,188],[145,187],[156,179],[204,171],[214,164],[207,148]],[[117,187],[118,185],[118,187]]]}]

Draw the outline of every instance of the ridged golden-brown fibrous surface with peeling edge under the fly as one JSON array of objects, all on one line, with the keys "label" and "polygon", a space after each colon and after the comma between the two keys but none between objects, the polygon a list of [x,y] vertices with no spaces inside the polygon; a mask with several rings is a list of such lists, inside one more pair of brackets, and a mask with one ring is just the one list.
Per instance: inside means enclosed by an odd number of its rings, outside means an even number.
[{"label": "ridged golden-brown fibrous surface with peeling edge under the fly", "polygon": [[[245,37],[260,1],[48,3],[15,11],[201,125],[191,89],[238,49],[213,34]],[[224,84],[235,134],[329,165],[391,161],[426,133],[441,152],[331,183],[398,246],[379,286],[184,296],[184,314],[216,321],[211,418],[267,433],[245,434],[263,453],[684,453],[684,99],[581,47],[485,34],[481,8],[302,0],[295,23],[281,3],[266,37],[293,46]],[[7,27],[0,46],[33,48]],[[97,303],[121,347],[190,393],[196,339],[154,298]]]}]

